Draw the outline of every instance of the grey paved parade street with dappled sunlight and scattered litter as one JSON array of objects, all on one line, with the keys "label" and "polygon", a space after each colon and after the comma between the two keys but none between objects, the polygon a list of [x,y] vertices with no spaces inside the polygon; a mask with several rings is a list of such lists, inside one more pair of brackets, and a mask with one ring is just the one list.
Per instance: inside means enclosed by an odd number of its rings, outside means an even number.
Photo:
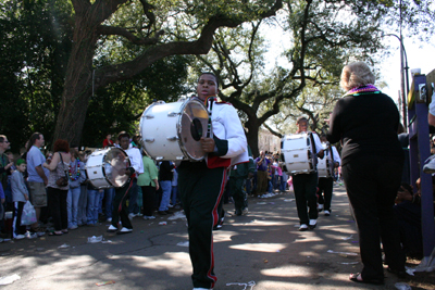
[{"label": "grey paved parade street with dappled sunlight and scattered litter", "polygon": [[[250,198],[244,216],[233,214],[233,204],[225,210],[223,228],[214,231],[215,290],[397,289],[397,282],[411,283],[386,270],[384,286],[349,281],[362,265],[344,186],[334,187],[332,215],[321,213],[314,230],[298,231],[289,191]],[[0,276],[20,278],[1,289],[192,289],[186,220],[170,218],[135,217],[128,235],[107,234],[109,224],[102,223],[61,237],[3,242]],[[88,243],[101,235],[103,242]],[[97,286],[108,281],[114,283]]]}]

